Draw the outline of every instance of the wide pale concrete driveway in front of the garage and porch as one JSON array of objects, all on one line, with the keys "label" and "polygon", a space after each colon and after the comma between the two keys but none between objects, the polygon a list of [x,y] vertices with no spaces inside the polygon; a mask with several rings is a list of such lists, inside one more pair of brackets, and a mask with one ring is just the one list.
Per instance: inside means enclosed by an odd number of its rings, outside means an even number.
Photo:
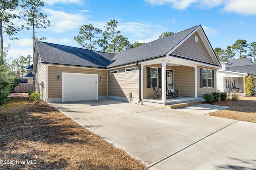
[{"label": "wide pale concrete driveway in front of the garage and porch", "polygon": [[204,115],[225,107],[162,109],[116,100],[51,105],[150,170],[256,169],[256,123]]}]

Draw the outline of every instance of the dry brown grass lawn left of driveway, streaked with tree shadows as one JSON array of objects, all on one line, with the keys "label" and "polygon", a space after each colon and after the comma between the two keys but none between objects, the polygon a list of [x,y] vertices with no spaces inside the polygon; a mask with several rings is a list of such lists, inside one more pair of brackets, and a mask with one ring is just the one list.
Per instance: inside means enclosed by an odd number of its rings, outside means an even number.
[{"label": "dry brown grass lawn left of driveway, streaked with tree shadows", "polygon": [[[45,103],[11,98],[0,107],[0,169],[145,170],[138,160]],[[16,161],[35,160],[36,164]]]}]

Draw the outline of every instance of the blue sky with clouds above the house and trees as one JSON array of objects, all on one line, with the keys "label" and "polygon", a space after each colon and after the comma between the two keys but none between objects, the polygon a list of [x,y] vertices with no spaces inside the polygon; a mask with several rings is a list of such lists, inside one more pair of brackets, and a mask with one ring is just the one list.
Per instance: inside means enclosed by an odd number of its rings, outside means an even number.
[{"label": "blue sky with clouds above the house and trees", "polygon": [[[226,49],[238,39],[256,41],[256,0],[44,0],[41,12],[50,27],[37,29],[36,37],[45,42],[78,47],[74,36],[84,24],[92,23],[104,31],[110,20],[130,43],[150,42],[163,32],[177,33],[202,25],[213,48]],[[14,20],[16,25],[23,20]],[[22,30],[10,41],[4,35],[8,57],[32,56],[32,31]],[[236,56],[237,58],[237,56]]]}]

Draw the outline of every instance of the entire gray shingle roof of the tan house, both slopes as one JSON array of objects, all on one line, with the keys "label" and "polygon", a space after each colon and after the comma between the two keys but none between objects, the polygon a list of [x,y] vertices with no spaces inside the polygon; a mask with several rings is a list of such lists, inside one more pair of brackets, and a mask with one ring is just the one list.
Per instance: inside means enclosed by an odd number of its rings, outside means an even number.
[{"label": "entire gray shingle roof of the tan house, both slopes", "polygon": [[36,41],[36,45],[42,63],[110,68],[157,57],[165,57],[170,50],[199,26],[200,25],[197,25],[190,29],[157,39],[116,55],[40,41]]}]

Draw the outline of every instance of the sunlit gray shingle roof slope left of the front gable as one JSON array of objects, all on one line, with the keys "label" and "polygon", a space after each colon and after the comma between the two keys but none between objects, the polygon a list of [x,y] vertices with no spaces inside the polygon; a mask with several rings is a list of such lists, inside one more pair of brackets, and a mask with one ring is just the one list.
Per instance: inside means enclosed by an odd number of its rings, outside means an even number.
[{"label": "sunlit gray shingle roof slope left of the front gable", "polygon": [[197,25],[190,29],[186,29],[173,35],[169,35],[167,37],[160,38],[155,41],[118,53],[114,56],[112,63],[110,63],[108,67],[136,63],[139,61],[164,56],[199,26],[200,25]]}]

